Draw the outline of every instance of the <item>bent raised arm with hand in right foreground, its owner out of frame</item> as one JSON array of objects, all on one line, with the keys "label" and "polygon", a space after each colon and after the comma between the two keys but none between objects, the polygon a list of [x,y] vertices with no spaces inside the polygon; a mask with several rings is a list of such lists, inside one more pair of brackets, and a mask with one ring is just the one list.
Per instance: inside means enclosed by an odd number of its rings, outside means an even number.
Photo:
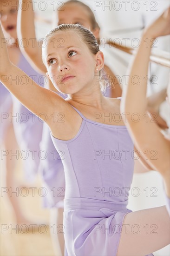
[{"label": "bent raised arm with hand in right foreground, its owner out of frame", "polygon": [[[147,113],[147,74],[152,43],[158,36],[170,33],[170,8],[164,12],[142,36],[140,47],[133,61],[128,85],[124,88],[121,111],[137,149],[149,164],[164,175],[170,168],[169,141],[154,122],[155,116]],[[126,113],[126,114],[125,114]]]}]

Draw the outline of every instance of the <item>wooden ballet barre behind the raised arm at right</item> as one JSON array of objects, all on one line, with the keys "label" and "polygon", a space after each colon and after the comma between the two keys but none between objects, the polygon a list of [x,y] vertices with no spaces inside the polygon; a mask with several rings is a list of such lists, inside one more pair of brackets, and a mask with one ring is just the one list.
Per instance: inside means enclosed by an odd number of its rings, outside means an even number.
[{"label": "wooden ballet barre behind the raised arm at right", "polygon": [[[124,47],[122,45],[120,46],[118,43],[115,43],[113,41],[106,41],[106,43],[128,54],[134,54],[137,49],[131,47]],[[170,68],[170,53],[162,50],[154,50],[150,55],[150,61],[157,63],[163,67]]]}]

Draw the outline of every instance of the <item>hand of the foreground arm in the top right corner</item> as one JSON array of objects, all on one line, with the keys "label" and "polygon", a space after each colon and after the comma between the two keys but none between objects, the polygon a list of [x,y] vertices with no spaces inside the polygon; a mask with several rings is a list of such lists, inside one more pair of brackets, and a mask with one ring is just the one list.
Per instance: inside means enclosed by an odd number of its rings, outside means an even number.
[{"label": "hand of the foreground arm in the top right corner", "polygon": [[144,30],[144,33],[152,38],[170,34],[170,7],[162,13],[149,27]]}]

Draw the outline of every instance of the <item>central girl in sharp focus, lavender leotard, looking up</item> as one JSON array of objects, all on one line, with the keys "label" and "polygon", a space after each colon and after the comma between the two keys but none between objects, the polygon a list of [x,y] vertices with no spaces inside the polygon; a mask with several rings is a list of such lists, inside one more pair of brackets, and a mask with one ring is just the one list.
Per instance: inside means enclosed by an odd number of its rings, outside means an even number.
[{"label": "central girl in sharp focus, lavender leotard, looking up", "polygon": [[[167,26],[167,19],[165,23]],[[2,31],[1,35],[2,42]],[[166,208],[133,213],[126,209],[133,175],[133,143],[121,120],[120,100],[103,96],[96,81],[104,56],[95,37],[79,25],[60,25],[46,36],[46,42],[43,61],[55,87],[68,94],[66,100],[32,85],[29,77],[26,86],[7,81],[10,75],[20,78],[25,73],[9,61],[2,43],[0,74],[4,85],[30,111],[46,113],[47,118],[41,118],[51,129],[56,149],[63,150],[68,255],[146,255],[162,248],[169,243]],[[64,113],[64,122],[54,122],[53,113],[56,117]],[[110,113],[112,118],[108,118]],[[146,232],[146,225],[157,226],[154,236]]]}]

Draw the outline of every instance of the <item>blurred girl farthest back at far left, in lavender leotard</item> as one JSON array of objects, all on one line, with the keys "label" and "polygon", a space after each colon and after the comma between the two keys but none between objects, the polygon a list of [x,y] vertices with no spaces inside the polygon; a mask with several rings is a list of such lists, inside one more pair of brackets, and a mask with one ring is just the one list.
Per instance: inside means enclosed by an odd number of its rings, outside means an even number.
[{"label": "blurred girl farthest back at far left, in lavender leotard", "polygon": [[[43,79],[40,74],[33,70],[25,57],[20,53],[16,32],[17,4],[18,1],[15,0],[13,2],[0,0],[0,21],[6,37],[4,43],[7,44],[10,60],[26,72],[26,74],[33,76],[35,82],[43,85]],[[26,180],[30,182],[35,180],[39,168],[38,153],[43,123],[37,116],[30,113],[15,97],[12,97],[4,86],[0,86],[0,112],[0,137],[3,142],[1,149],[8,152],[3,158],[5,159],[7,171],[6,186],[8,191],[10,191],[10,188],[16,190],[18,187],[13,171],[17,166],[17,159],[19,157],[24,159],[22,164]],[[30,140],[30,134],[35,135],[32,141]],[[17,151],[19,156],[17,156]],[[23,152],[23,155],[20,154],[21,152]],[[9,194],[8,198],[12,203],[17,223],[29,223],[30,221],[23,215],[16,193],[13,193],[12,196]]]}]

